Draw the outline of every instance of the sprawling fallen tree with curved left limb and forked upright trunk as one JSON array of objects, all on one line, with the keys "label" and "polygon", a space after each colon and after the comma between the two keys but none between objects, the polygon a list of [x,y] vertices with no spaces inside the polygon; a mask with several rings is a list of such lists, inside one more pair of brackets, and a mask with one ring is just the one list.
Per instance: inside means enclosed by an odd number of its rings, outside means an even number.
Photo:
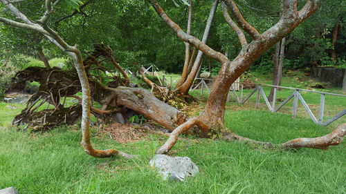
[{"label": "sprawling fallen tree with curved left limb and forked upright trunk", "polygon": [[[154,95],[144,89],[130,87],[111,88],[108,86],[102,86],[101,84],[98,84],[98,82],[93,81],[93,79],[90,79],[86,73],[87,64],[85,61],[87,59],[83,60],[78,47],[70,46],[68,43],[66,43],[66,41],[64,41],[64,39],[62,39],[62,37],[60,37],[60,35],[58,35],[57,32],[55,32],[55,30],[48,26],[48,20],[50,19],[51,14],[53,14],[55,8],[62,1],[57,0],[53,3],[51,0],[46,0],[46,10],[44,11],[43,16],[35,20],[29,19],[25,14],[20,12],[13,5],[15,1],[0,1],[3,6],[5,6],[12,14],[15,15],[15,17],[22,21],[19,22],[6,17],[0,17],[0,22],[9,26],[15,26],[17,28],[24,28],[27,30],[35,30],[36,32],[41,33],[44,35],[44,37],[55,44],[55,46],[66,52],[66,54],[73,59],[75,70],[77,71],[80,79],[80,88],[82,88],[81,143],[86,153],[92,155],[93,157],[120,155],[127,158],[134,156],[116,151],[115,149],[100,151],[91,146],[89,129],[90,115],[91,110],[95,110],[95,108],[91,106],[91,96],[93,96],[94,99],[98,98],[98,100],[104,102],[104,104],[116,104],[116,106],[125,106],[127,108],[131,108],[132,110],[136,110],[138,113],[145,115],[145,117],[153,119],[158,124],[172,130],[169,139],[161,148],[158,149],[157,153],[167,153],[170,151],[178,136],[181,133],[190,130],[190,128],[193,126],[198,127],[197,134],[201,137],[215,137],[215,135],[222,135],[224,139],[228,140],[253,142],[265,146],[277,146],[268,142],[257,142],[225,130],[224,111],[228,90],[237,77],[239,77],[239,75],[241,75],[249,66],[251,66],[251,64],[253,64],[255,59],[260,57],[262,53],[271,48],[271,46],[280,41],[280,39],[289,35],[289,33],[292,32],[295,27],[300,25],[300,23],[307,19],[313,13],[313,11],[318,8],[319,3],[319,1],[307,1],[303,8],[298,10],[297,1],[284,0],[282,2],[282,14],[279,21],[261,34],[244,19],[234,1],[224,0],[224,3],[230,9],[230,12],[233,14],[237,24],[235,24],[230,17],[227,17],[228,12],[224,12],[226,15],[226,21],[227,23],[231,24],[230,26],[235,29],[235,31],[238,32],[237,35],[239,37],[239,41],[242,43],[242,50],[233,61],[230,61],[230,59],[228,59],[225,55],[213,50],[207,46],[206,43],[203,43],[203,41],[200,41],[196,37],[183,32],[183,30],[181,30],[181,28],[174,23],[174,21],[167,17],[167,14],[165,14],[161,6],[159,6],[156,1],[149,0],[156,13],[161,17],[161,19],[163,19],[167,26],[172,28],[173,32],[176,33],[180,39],[192,44],[198,50],[201,50],[204,55],[208,55],[208,57],[219,61],[221,64],[219,75],[217,76],[212,92],[210,93],[206,108],[198,117],[187,118],[179,110],[163,103],[163,101],[159,101],[154,97]],[[244,39],[244,32],[242,32],[242,30],[244,30],[251,37],[251,39],[253,39],[250,43]],[[108,53],[108,51],[106,53]],[[107,56],[111,55],[107,54]],[[58,72],[45,69],[41,73],[42,75],[46,75],[44,80],[48,80],[53,73]],[[60,71],[60,73],[62,76],[64,76],[64,71]],[[91,84],[89,84],[89,81],[91,81]],[[95,94],[95,88],[97,88],[97,93],[102,95],[97,96],[97,94]],[[91,93],[91,90],[93,93]],[[52,100],[54,101],[53,98]],[[58,101],[55,102],[55,106],[59,108],[60,104]],[[102,113],[102,111],[96,111]],[[345,132],[346,125],[343,125],[334,130],[334,132],[323,137],[316,137],[312,139],[293,139],[284,144],[280,144],[279,146],[284,148],[328,148],[328,146],[340,144]]]}]

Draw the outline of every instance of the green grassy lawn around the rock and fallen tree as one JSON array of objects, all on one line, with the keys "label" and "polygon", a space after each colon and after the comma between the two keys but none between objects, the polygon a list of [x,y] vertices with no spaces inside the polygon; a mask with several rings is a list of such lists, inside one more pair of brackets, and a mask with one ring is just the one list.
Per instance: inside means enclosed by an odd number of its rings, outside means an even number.
[{"label": "green grassy lawn around the rock and fallen tree", "polygon": [[[329,90],[338,92],[337,88]],[[280,91],[282,98],[289,94]],[[317,103],[318,110],[319,95],[307,93],[303,97],[311,106]],[[344,117],[328,127],[318,126],[301,104],[298,117],[292,119],[291,104],[271,113],[263,100],[260,110],[255,110],[254,102],[255,96],[244,105],[231,99],[226,126],[239,135],[280,143],[326,135],[346,122]],[[118,144],[93,128],[95,148],[118,148],[140,155],[134,160],[97,159],[84,153],[81,133],[75,126],[42,134],[11,128],[10,121],[24,106],[12,104],[17,107],[12,109],[9,105],[0,102],[0,188],[15,186],[19,193],[346,193],[345,142],[327,151],[284,151],[190,137],[179,140],[170,155],[191,157],[200,173],[188,182],[164,182],[148,163],[165,138],[149,134],[138,142]],[[331,117],[346,107],[345,98],[328,98],[326,107],[325,114]]]}]

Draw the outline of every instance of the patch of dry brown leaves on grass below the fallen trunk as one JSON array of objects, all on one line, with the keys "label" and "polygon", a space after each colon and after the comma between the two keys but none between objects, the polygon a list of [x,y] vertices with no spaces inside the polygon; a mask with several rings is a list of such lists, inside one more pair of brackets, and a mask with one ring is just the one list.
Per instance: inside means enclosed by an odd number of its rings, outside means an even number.
[{"label": "patch of dry brown leaves on grass below the fallen trunk", "polygon": [[109,133],[111,138],[119,144],[137,142],[147,137],[145,129],[130,124],[111,124],[104,128],[102,133]]}]

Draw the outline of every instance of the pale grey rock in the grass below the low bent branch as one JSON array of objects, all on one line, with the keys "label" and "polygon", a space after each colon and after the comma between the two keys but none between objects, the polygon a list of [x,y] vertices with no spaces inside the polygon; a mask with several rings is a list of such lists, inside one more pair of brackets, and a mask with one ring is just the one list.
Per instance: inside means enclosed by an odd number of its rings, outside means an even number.
[{"label": "pale grey rock in the grass below the low bent branch", "polygon": [[159,154],[150,159],[149,164],[158,169],[163,180],[185,181],[186,177],[194,177],[199,173],[198,167],[190,157],[170,157]]}]

